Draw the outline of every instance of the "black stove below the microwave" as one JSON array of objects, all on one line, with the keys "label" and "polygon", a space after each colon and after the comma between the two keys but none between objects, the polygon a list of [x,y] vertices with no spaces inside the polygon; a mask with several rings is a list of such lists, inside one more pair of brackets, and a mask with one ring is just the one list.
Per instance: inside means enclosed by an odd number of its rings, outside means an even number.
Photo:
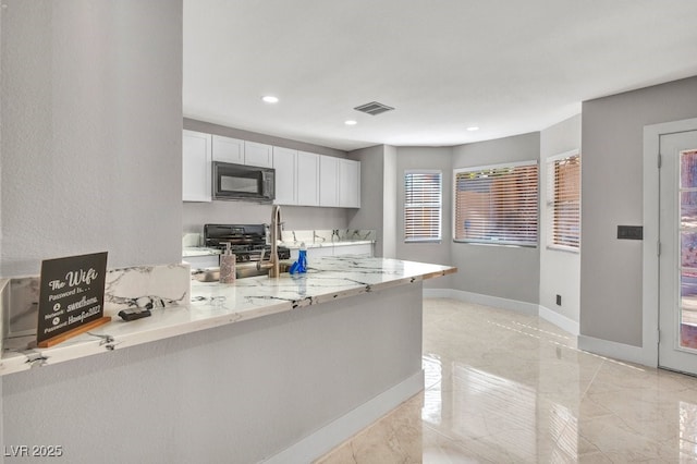
[{"label": "black stove below the microwave", "polygon": [[[209,248],[224,251],[230,243],[231,252],[237,262],[269,259],[271,245],[267,243],[266,224],[205,224],[204,244]],[[291,251],[279,246],[279,259],[290,259]]]}]

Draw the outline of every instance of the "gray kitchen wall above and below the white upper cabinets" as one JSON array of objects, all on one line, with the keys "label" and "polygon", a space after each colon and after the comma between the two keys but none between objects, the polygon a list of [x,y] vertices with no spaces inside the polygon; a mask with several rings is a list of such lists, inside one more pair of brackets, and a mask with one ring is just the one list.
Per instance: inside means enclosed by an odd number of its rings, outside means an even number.
[{"label": "gray kitchen wall above and below the white upper cabinets", "polygon": [[[225,127],[193,119],[184,119],[184,129],[199,131],[243,141],[258,142],[277,147],[309,151],[319,155],[345,158],[346,152],[319,145],[305,144],[288,138],[273,137],[255,132]],[[345,229],[348,227],[350,210],[344,208],[319,208],[283,206],[281,220],[288,230]],[[206,223],[269,223],[271,206],[246,202],[184,203],[182,208],[182,232],[203,233]],[[369,229],[375,229],[372,225]]]}]

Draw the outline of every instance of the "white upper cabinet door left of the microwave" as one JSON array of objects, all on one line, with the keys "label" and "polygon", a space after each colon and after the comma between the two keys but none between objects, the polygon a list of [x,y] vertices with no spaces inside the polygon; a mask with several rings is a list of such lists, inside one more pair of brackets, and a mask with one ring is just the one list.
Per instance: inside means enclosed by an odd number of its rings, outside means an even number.
[{"label": "white upper cabinet door left of the microwave", "polygon": [[211,137],[194,131],[182,133],[182,199],[211,200]]}]

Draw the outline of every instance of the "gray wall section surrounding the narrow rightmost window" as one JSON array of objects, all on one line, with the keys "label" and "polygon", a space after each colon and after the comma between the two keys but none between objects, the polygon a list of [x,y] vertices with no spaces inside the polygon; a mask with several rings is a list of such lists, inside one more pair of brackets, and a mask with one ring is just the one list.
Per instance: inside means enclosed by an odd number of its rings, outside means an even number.
[{"label": "gray wall section surrounding the narrow rightmost window", "polygon": [[[539,304],[578,322],[580,308],[580,254],[547,248],[547,158],[580,148],[580,114],[540,133],[540,294]],[[583,164],[583,154],[582,154]],[[583,240],[583,237],[582,237]],[[558,306],[555,296],[562,296]]]}]

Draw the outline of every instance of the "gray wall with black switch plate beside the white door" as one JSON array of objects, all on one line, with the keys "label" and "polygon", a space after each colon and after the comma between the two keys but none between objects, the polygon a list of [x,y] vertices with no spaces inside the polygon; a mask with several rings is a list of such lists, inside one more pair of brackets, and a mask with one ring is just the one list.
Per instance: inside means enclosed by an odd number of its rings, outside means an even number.
[{"label": "gray wall with black switch plate beside the white door", "polygon": [[641,242],[616,227],[643,223],[644,126],[697,117],[697,77],[585,101],[582,114],[580,333],[641,346]]}]

